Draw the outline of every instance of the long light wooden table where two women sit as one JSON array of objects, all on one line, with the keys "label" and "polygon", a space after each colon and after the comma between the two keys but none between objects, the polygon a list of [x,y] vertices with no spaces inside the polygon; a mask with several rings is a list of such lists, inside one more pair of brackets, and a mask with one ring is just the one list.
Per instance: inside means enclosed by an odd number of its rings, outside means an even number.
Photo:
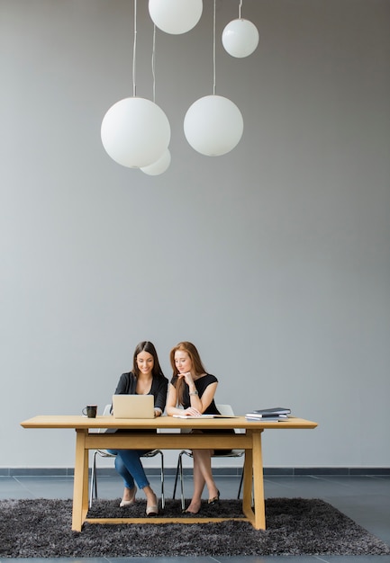
[{"label": "long light wooden table where two women sit", "polygon": [[[73,491],[72,530],[81,532],[83,523],[206,523],[231,518],[202,518],[199,516],[164,518],[87,518],[88,512],[88,451],[106,449],[192,450],[223,449],[245,450],[242,512],[235,520],[249,521],[257,530],[266,529],[264,505],[263,460],[261,433],[266,429],[311,429],[317,423],[291,417],[286,422],[249,422],[245,416],[234,418],[192,418],[189,420],[159,416],[150,420],[113,418],[113,416],[34,416],[21,423],[23,428],[73,428],[76,430],[76,460]],[[132,433],[97,433],[98,428],[120,428]],[[183,428],[243,429],[244,433],[180,433]],[[159,433],[134,431],[159,429]],[[165,433],[164,430],[170,432]],[[176,429],[177,433],[172,432]],[[252,508],[253,482],[253,508]]]}]

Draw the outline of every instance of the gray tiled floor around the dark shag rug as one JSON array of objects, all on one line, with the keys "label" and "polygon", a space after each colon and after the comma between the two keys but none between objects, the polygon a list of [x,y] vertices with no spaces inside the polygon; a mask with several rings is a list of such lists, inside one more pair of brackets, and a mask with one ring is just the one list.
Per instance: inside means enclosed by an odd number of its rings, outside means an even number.
[{"label": "gray tiled floor around the dark shag rug", "polygon": [[[221,496],[232,498],[237,495],[239,479],[236,477],[216,477]],[[99,477],[99,496],[115,498],[122,495],[120,478]],[[166,478],[166,496],[172,496],[173,478]],[[159,491],[159,478],[151,478],[152,487]],[[188,487],[190,487],[188,483]],[[190,490],[186,491],[189,496]],[[302,496],[322,498],[339,508],[355,522],[366,528],[376,537],[390,545],[390,477],[336,477],[300,476],[265,478],[266,496]],[[0,498],[71,498],[73,478],[71,477],[0,477]],[[0,539],[1,541],[1,539]],[[64,558],[65,559],[65,558]],[[390,556],[357,557],[197,557],[197,558],[117,558],[114,563],[390,563]],[[12,563],[14,559],[0,559],[0,563]],[[62,559],[32,559],[33,563],[61,563]],[[79,559],[66,559],[77,562]],[[86,558],[83,563],[107,563],[111,559]],[[23,559],[28,563],[29,559]],[[20,559],[19,559],[20,562]]]}]

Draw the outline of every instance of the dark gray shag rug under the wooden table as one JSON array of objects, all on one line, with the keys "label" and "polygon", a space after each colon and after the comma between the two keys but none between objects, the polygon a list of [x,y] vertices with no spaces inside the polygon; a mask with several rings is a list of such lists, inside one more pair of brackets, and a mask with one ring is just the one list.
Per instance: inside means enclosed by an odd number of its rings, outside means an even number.
[{"label": "dark gray shag rug under the wooden table", "polygon": [[[95,500],[90,517],[144,516],[145,502]],[[390,547],[320,499],[269,498],[267,530],[248,522],[90,524],[71,531],[72,501],[0,501],[0,558],[384,555]],[[180,515],[168,500],[166,516]],[[204,516],[242,516],[241,503],[202,505]]]}]

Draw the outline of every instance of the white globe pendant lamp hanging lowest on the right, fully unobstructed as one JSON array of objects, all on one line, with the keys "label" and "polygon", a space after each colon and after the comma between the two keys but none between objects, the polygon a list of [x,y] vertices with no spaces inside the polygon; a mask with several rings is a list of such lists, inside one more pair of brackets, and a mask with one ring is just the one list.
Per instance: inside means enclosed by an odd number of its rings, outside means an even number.
[{"label": "white globe pendant lamp hanging lowest on the right, fully unobstructed", "polygon": [[196,100],[184,120],[188,143],[206,156],[221,156],[231,151],[239,143],[243,129],[237,105],[214,94]]}]

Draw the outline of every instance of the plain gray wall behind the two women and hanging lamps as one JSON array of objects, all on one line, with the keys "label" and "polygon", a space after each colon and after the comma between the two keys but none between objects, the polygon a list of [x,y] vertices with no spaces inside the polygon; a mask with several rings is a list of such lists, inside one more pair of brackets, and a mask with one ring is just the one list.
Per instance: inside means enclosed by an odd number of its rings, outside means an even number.
[{"label": "plain gray wall behind the two women and hanging lamps", "polygon": [[[218,0],[218,37],[238,4]],[[390,465],[390,3],[246,0],[258,50],[216,57],[244,134],[214,158],[183,133],[213,92],[212,8],[157,33],[172,163],[151,177],[100,140],[132,95],[132,1],[0,0],[1,467],[71,467],[74,433],[19,423],[102,411],[143,339],[169,377],[193,341],[237,414],[319,423],[267,432],[266,466]],[[138,28],[151,98],[146,0]]]}]

